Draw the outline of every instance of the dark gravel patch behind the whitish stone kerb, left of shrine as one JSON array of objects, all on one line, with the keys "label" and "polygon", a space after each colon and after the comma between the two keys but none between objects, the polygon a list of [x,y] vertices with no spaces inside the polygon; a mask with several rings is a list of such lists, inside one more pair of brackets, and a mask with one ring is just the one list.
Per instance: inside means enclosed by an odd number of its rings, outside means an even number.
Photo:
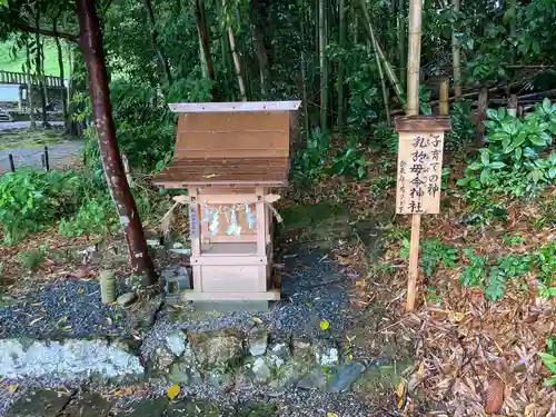
[{"label": "dark gravel patch behind the whitish stone kerb, left of shrine", "polygon": [[100,301],[97,281],[64,279],[14,306],[0,308],[0,337],[120,336],[129,332],[126,312]]}]

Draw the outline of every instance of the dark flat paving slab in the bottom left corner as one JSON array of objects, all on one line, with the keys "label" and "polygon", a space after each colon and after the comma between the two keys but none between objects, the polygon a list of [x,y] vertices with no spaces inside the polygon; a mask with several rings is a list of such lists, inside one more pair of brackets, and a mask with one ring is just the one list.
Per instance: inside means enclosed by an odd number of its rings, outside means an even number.
[{"label": "dark flat paving slab in the bottom left corner", "polygon": [[31,390],[18,399],[4,417],[56,417],[73,393],[64,388]]}]

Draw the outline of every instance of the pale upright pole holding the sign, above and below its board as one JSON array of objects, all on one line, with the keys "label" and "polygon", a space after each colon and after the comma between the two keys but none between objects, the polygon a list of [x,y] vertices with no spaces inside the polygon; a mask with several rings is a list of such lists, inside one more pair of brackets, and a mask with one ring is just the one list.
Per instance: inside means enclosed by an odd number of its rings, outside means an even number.
[{"label": "pale upright pole holding the sign, above and below its board", "polygon": [[[406,115],[419,115],[419,68],[420,68],[420,28],[421,0],[409,0],[409,41],[407,57],[407,105]],[[419,232],[420,215],[411,215],[411,241],[409,244],[409,270],[407,275],[406,311],[415,307],[417,278],[419,275]]]}]

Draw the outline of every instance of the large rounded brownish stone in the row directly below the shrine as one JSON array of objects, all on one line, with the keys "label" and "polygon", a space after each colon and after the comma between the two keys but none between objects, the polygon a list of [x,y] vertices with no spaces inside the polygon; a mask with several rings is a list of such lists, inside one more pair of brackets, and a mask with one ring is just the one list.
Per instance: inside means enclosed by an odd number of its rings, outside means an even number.
[{"label": "large rounded brownish stone in the row directly below the shrine", "polygon": [[244,341],[235,330],[189,332],[188,340],[196,359],[207,369],[232,368],[244,357]]}]

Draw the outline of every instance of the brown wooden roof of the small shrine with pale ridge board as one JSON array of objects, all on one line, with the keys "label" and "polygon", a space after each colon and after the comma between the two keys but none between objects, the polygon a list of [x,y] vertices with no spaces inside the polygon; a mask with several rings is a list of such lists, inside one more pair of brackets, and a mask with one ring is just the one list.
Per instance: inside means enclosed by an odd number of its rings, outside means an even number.
[{"label": "brown wooden roof of the small shrine with pale ridge board", "polygon": [[163,187],[287,182],[291,112],[300,101],[171,103],[179,115]]}]

